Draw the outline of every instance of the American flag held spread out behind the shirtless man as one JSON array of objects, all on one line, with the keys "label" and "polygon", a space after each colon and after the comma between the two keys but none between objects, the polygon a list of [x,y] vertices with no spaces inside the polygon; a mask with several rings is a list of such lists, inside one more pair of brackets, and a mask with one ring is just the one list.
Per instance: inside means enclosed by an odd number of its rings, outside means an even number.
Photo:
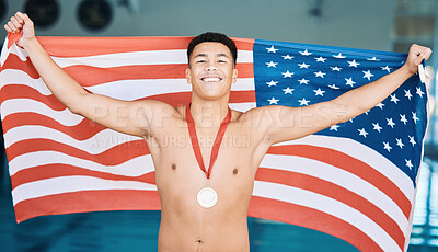
[{"label": "American flag held spread out behind the shirtless man", "polygon": [[[39,37],[53,59],[94,93],[188,104],[191,37]],[[307,106],[388,75],[406,55],[234,39],[239,79],[230,106]],[[16,220],[80,211],[160,209],[141,138],[70,113],[26,53],[4,43],[1,119]],[[426,88],[412,77],[367,113],[273,146],[249,215],[341,238],[361,251],[404,251],[427,126]]]}]

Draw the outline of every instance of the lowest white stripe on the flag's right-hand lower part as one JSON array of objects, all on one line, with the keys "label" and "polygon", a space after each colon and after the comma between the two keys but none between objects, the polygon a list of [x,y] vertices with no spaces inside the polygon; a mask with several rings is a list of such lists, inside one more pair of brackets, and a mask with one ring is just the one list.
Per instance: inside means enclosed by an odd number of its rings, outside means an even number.
[{"label": "lowest white stripe on the flag's right-hand lower part", "polygon": [[318,209],[337,217],[370,237],[383,251],[401,251],[396,242],[376,222],[360,211],[313,192],[280,184],[255,181],[253,195]]}]

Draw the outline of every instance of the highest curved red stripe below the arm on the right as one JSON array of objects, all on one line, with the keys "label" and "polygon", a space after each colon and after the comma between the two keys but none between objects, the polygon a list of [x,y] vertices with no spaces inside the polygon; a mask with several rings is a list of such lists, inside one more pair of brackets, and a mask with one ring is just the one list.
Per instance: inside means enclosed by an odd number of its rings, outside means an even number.
[{"label": "highest curved red stripe below the arm on the right", "polygon": [[379,191],[387,194],[399,205],[405,217],[407,219],[410,218],[411,202],[403,192],[389,177],[382,175],[380,172],[376,171],[374,168],[358,159],[333,149],[307,145],[273,146],[267,153],[299,156],[343,169],[374,185]]}]

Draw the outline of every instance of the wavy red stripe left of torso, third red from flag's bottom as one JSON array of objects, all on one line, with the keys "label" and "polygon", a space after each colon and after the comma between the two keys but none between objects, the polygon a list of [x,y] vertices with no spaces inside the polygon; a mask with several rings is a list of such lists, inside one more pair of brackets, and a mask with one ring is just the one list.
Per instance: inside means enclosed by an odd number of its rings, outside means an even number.
[{"label": "wavy red stripe left of torso, third red from flag's bottom", "polygon": [[[113,140],[114,139],[108,139],[108,141]],[[102,141],[100,144],[106,145],[108,142]],[[97,147],[90,146],[90,149],[93,148]],[[142,139],[119,144],[114,146],[113,148],[106,149],[99,154],[91,154],[87,151],[80,150],[62,142],[58,142],[51,139],[36,138],[26,139],[13,144],[9,148],[7,148],[7,156],[8,160],[11,162],[14,158],[21,154],[47,150],[58,151],[60,153],[66,153],[68,156],[79,159],[91,160],[102,165],[118,165],[120,163],[129,161],[130,159],[150,153],[148,146]]]}]

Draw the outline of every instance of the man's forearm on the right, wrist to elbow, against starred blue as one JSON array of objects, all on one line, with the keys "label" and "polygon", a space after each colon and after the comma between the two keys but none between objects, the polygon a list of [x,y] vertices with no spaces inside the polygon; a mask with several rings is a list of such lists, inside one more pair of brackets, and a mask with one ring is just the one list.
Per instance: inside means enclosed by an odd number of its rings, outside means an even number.
[{"label": "man's forearm on the right, wrist to elbow, against starred blue", "polygon": [[374,107],[411,78],[413,72],[403,66],[377,81],[344,93],[333,102],[346,108],[345,121],[347,121]]}]

